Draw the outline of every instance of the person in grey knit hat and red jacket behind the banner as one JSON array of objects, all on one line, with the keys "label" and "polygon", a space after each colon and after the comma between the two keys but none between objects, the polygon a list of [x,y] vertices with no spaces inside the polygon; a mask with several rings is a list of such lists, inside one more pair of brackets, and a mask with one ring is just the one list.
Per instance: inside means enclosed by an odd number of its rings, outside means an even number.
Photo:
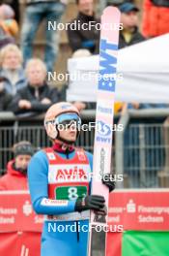
[{"label": "person in grey knit hat and red jacket behind the banner", "polygon": [[14,144],[14,160],[7,165],[7,174],[0,178],[0,190],[28,190],[27,167],[34,154],[32,144]]}]

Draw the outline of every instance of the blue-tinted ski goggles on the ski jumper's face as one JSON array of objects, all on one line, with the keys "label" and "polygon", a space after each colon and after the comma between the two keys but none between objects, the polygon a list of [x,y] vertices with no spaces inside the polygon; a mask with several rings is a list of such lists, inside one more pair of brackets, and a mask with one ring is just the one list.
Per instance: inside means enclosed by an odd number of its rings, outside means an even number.
[{"label": "blue-tinted ski goggles on the ski jumper's face", "polygon": [[77,128],[81,125],[81,118],[78,116],[77,113],[62,113],[55,118],[55,125],[60,125],[64,129],[70,128],[71,125]]}]

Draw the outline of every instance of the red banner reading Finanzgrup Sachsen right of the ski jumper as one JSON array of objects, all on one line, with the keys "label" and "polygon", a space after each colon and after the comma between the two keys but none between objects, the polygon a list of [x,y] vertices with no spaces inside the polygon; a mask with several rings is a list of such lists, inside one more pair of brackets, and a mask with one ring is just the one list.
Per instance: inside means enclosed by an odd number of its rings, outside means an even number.
[{"label": "red banner reading Finanzgrup Sachsen right of the ski jumper", "polygon": [[117,190],[108,211],[109,224],[124,230],[169,231],[169,189]]}]

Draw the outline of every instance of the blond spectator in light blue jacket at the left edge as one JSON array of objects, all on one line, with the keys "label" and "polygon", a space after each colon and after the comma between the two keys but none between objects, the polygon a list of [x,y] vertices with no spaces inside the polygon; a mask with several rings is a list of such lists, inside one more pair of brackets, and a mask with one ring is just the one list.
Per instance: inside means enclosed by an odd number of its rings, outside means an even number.
[{"label": "blond spectator in light blue jacket at the left edge", "polygon": [[15,94],[26,85],[22,68],[22,53],[15,45],[8,45],[0,51],[1,76],[5,78],[4,87],[8,93]]}]

